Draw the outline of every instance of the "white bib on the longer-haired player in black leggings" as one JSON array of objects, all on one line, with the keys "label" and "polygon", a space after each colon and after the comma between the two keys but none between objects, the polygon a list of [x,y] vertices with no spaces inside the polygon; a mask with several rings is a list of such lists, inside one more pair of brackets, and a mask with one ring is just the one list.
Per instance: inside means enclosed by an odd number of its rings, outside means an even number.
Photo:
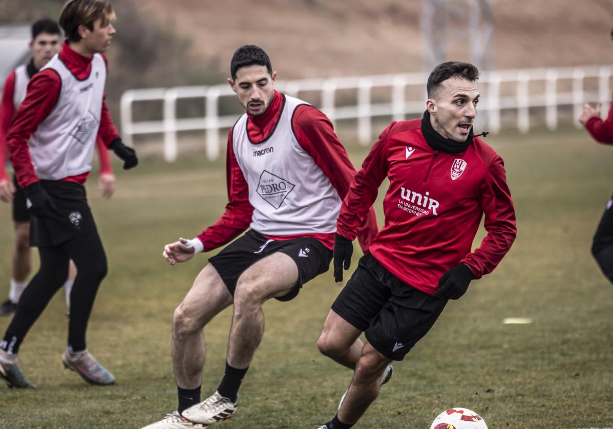
[{"label": "white bib on the longer-haired player in black leggings", "polygon": [[55,55],[41,70],[53,69],[62,87],[51,113],[28,142],[34,171],[41,179],[59,180],[91,170],[100,127],[107,67],[95,54],[89,75],[77,79]]}]

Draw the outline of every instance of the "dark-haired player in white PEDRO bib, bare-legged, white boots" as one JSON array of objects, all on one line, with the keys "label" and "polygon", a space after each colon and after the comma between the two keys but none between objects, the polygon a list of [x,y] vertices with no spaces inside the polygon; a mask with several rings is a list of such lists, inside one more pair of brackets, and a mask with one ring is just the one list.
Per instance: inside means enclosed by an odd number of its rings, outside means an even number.
[{"label": "dark-haired player in white PEDRO bib, bare-legged, white boots", "polygon": [[[326,115],[273,88],[276,72],[264,50],[239,48],[230,74],[246,113],[228,136],[229,202],[213,226],[192,240],[166,245],[163,255],[170,265],[186,262],[249,230],[208,260],[176,309],[178,409],[147,428],[202,428],[232,417],[264,335],[262,305],[270,298],[295,298],[303,284],[328,270],[338,211],[356,174]],[[357,233],[364,251],[376,232],[371,210]],[[200,403],[202,328],[230,305],[226,371],[216,392]]]}]

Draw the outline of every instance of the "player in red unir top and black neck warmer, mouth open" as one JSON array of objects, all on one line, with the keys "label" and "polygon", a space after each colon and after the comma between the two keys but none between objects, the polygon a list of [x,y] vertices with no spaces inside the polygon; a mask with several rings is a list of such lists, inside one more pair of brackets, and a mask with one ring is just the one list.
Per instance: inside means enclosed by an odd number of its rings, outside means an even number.
[{"label": "player in red unir top and black neck warmer, mouth open", "polygon": [[[503,161],[474,137],[479,71],[437,66],[419,120],[392,122],[351,184],[337,222],[334,276],[349,268],[356,227],[389,178],[385,226],[327,316],[318,347],[354,370],[338,413],[319,429],[356,424],[375,400],[392,360],[403,360],[449,299],[490,273],[516,235]],[[481,218],[487,236],[471,251]],[[359,336],[364,332],[366,343]]]}]

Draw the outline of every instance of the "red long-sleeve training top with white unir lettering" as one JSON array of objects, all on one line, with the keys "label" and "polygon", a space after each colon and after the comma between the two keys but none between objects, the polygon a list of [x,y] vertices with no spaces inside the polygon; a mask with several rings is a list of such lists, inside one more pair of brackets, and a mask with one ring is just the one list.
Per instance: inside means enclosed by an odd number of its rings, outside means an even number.
[{"label": "red long-sleeve training top with white unir lettering", "polygon": [[[460,263],[481,278],[511,248],[517,229],[503,161],[481,140],[463,153],[436,151],[422,135],[421,120],[392,122],[351,184],[338,233],[356,237],[386,177],[385,225],[370,252],[409,286],[432,295],[444,271]],[[487,236],[471,252],[482,214]]]}]

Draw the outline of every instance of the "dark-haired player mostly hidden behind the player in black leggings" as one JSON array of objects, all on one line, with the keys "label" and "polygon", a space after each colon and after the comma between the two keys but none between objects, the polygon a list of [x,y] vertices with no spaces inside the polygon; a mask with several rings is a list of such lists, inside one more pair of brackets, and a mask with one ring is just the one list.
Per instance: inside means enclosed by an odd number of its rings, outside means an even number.
[{"label": "dark-haired player mostly hidden behind the player in black leggings", "polygon": [[[26,207],[26,196],[17,183],[17,177],[13,175],[13,180],[10,180],[6,173],[6,137],[15,112],[26,97],[29,80],[61,48],[58,23],[45,18],[32,24],[32,41],[29,43],[29,48],[32,52],[31,61],[10,72],[4,83],[0,101],[0,200],[12,203],[15,226],[9,297],[0,305],[0,316],[9,316],[15,312],[21,292],[28,285],[26,280],[31,270],[30,214]],[[115,175],[110,165],[109,151],[102,140],[98,140],[96,148],[100,159],[98,186],[102,190],[102,196],[110,198],[115,191]],[[70,290],[76,275],[77,269],[74,263],[70,262],[69,275],[64,283],[67,312],[70,308]]]}]

